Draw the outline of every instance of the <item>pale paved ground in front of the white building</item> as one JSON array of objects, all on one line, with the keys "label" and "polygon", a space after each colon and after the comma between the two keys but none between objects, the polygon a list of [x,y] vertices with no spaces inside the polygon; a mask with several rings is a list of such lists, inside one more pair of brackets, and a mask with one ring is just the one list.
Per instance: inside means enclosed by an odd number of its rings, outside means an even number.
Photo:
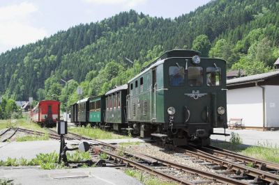
[{"label": "pale paved ground in front of the white building", "polygon": [[[224,129],[217,128],[214,129],[216,133],[224,133]],[[231,134],[232,132],[239,134],[245,145],[269,145],[279,146],[279,131],[257,131],[257,130],[246,130],[246,129],[226,129],[226,134]],[[230,136],[219,136],[211,135],[213,140],[225,140],[229,141]]]}]

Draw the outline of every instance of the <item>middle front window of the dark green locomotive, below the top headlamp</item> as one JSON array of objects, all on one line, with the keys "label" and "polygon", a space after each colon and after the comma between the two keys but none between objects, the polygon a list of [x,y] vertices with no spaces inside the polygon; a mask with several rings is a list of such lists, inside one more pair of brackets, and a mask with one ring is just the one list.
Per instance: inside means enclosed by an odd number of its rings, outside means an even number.
[{"label": "middle front window of the dark green locomotive, below the top headlamp", "polygon": [[204,72],[202,67],[188,67],[189,86],[202,86],[204,83]]}]

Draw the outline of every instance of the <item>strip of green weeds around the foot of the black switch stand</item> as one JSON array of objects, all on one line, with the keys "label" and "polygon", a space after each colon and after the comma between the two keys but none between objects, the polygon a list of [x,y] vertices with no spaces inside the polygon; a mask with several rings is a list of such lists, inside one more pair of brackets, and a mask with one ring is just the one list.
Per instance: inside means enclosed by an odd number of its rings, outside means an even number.
[{"label": "strip of green weeds around the foot of the black switch stand", "polygon": [[[24,158],[10,158],[6,161],[0,160],[0,166],[40,166],[45,170],[64,168],[63,163],[58,164],[59,154],[52,152],[49,154],[38,154],[30,161]],[[68,161],[85,161],[91,159],[89,152],[75,151],[73,154],[67,153]],[[85,166],[84,166],[85,167]]]}]

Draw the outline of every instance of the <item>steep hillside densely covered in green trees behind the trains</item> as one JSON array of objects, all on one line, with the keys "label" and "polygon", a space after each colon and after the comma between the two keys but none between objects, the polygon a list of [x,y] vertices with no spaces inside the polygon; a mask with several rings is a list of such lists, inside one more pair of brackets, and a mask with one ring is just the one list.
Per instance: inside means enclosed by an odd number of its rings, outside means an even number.
[{"label": "steep hillside densely covered in green trees behind the trains", "polygon": [[[174,48],[224,58],[228,70],[267,72],[279,57],[278,46],[277,0],[216,0],[175,19],[130,10],[1,54],[0,95],[62,102],[68,95],[70,104],[77,86],[84,97],[105,93]],[[73,81],[66,89],[60,79]]]}]

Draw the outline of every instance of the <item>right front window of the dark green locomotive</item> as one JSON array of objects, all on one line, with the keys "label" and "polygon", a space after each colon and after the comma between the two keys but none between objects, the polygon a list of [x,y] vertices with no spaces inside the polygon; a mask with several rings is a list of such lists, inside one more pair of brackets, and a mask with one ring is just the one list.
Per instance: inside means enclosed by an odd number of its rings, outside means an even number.
[{"label": "right front window of the dark green locomotive", "polygon": [[207,67],[206,68],[206,84],[207,86],[220,86],[221,68]]}]

